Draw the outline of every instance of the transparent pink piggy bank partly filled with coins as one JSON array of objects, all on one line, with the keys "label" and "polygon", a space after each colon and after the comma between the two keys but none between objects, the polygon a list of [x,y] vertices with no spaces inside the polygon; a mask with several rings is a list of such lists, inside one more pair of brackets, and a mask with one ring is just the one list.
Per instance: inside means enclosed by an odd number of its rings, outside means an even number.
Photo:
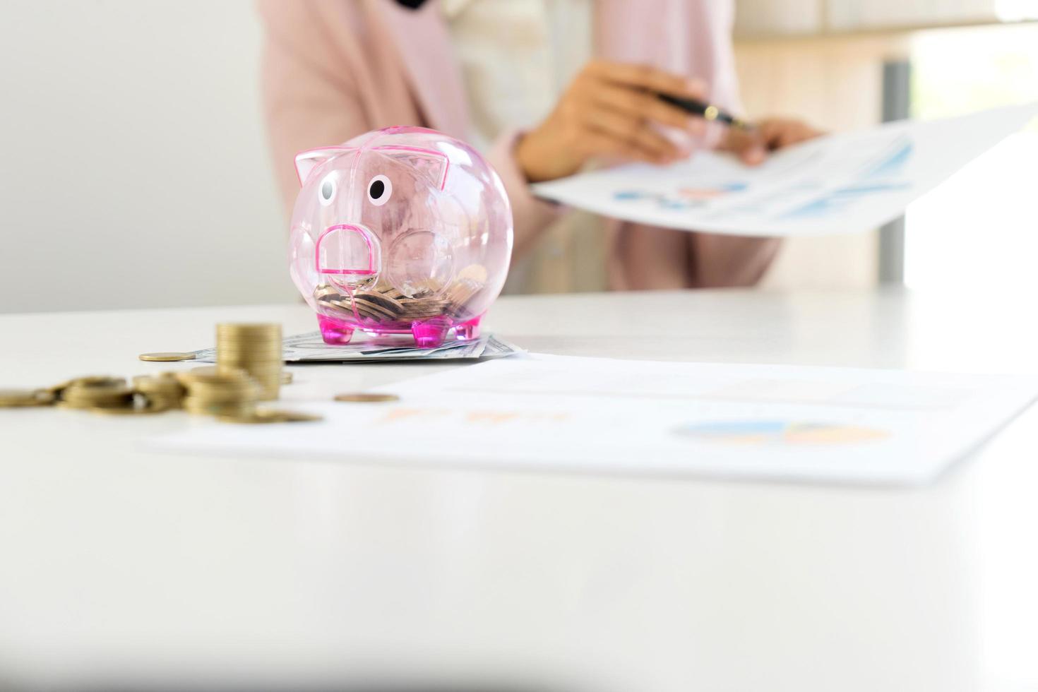
[{"label": "transparent pink piggy bank partly filled with coins", "polygon": [[296,156],[292,280],[327,343],[356,330],[417,345],[479,336],[512,256],[512,210],[486,161],[425,128]]}]

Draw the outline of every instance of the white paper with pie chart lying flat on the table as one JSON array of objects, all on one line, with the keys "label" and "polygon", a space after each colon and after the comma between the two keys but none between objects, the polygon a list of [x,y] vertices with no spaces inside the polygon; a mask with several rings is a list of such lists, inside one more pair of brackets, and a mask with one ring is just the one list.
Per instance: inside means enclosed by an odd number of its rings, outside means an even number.
[{"label": "white paper with pie chart lying flat on the table", "polygon": [[1038,379],[529,356],[376,389],[384,404],[211,423],[153,440],[199,452],[426,467],[926,482],[1038,396]]}]

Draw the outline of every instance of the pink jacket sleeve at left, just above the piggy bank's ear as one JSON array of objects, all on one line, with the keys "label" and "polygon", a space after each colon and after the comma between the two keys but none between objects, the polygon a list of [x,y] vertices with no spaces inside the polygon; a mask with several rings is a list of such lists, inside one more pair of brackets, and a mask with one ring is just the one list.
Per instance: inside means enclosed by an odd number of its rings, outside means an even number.
[{"label": "pink jacket sleeve at left, just above the piggy bank's ear", "polygon": [[370,130],[347,71],[329,38],[321,3],[305,0],[257,2],[266,36],[263,47],[263,105],[278,189],[291,210],[299,191],[295,156]]}]

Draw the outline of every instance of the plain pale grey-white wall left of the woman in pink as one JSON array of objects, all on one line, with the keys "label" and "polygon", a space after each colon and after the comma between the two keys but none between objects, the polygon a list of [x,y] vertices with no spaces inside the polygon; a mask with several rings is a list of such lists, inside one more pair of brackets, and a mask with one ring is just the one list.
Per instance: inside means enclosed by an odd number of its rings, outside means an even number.
[{"label": "plain pale grey-white wall left of the woman in pink", "polygon": [[4,0],[0,312],[283,302],[247,0]]}]

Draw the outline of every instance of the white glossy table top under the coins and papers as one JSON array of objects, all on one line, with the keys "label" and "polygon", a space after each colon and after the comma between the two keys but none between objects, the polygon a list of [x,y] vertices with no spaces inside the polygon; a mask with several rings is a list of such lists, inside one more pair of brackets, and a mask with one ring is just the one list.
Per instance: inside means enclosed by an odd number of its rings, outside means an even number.
[{"label": "white glossy table top under the coins and papers", "polygon": [[[730,290],[507,298],[489,327],[556,354],[1034,372],[1033,314],[1027,297]],[[0,380],[160,370],[137,354],[247,320],[315,324],[303,306],[5,315]],[[443,367],[296,367],[283,398]],[[200,424],[181,413],[4,410],[0,681],[134,664],[1038,689],[1036,423],[933,487],[877,490],[188,456],[140,447]]]}]

